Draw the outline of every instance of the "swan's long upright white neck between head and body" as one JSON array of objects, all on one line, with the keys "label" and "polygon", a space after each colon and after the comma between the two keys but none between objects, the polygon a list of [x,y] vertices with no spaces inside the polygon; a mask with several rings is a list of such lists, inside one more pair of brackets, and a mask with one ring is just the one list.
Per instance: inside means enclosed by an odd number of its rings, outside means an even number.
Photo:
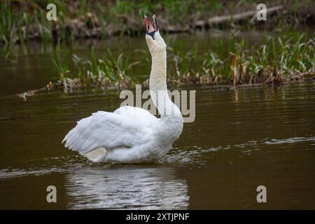
[{"label": "swan's long upright white neck between head and body", "polygon": [[151,52],[152,67],[150,76],[150,91],[153,103],[161,114],[161,120],[170,125],[176,125],[176,129],[183,129],[183,116],[179,108],[169,98],[167,92],[167,50]]}]

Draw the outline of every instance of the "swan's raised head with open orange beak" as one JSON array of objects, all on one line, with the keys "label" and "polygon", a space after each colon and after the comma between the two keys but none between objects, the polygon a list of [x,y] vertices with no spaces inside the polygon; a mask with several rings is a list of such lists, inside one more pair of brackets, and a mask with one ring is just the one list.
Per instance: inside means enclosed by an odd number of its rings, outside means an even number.
[{"label": "swan's raised head with open orange beak", "polygon": [[148,44],[148,48],[152,53],[159,52],[161,50],[165,50],[167,45],[160,35],[160,31],[158,29],[158,21],[156,20],[156,16],[153,15],[153,24],[148,20],[146,15],[144,15],[144,22],[146,22],[146,43]]}]

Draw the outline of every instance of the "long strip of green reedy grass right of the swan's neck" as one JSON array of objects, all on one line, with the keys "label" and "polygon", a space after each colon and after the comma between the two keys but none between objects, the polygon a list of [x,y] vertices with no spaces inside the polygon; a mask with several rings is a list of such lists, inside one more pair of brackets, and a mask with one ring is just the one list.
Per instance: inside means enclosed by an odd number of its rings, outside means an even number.
[{"label": "long strip of green reedy grass right of the swan's neck", "polygon": [[[244,47],[245,41],[232,37],[229,55],[221,57],[211,50],[204,54],[193,48],[183,53],[173,50],[169,78],[182,83],[215,84],[220,80],[228,83],[272,83],[294,78],[302,73],[315,71],[315,38],[304,34],[287,34],[270,37],[270,45],[258,49]],[[223,44],[223,43],[222,43]],[[224,49],[225,45],[221,46]]]}]

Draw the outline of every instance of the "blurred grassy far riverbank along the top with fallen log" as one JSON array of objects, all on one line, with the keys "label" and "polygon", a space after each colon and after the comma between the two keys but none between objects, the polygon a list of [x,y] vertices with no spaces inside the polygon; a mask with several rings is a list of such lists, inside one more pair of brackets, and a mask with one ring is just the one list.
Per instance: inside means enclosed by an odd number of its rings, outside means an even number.
[{"label": "blurred grassy far riverbank along the top with fallen log", "polygon": [[314,2],[265,1],[267,21],[255,19],[252,1],[55,1],[57,20],[46,19],[48,1],[1,2],[2,45],[25,41],[73,41],[79,38],[137,36],[144,33],[142,16],[156,13],[162,31],[203,29],[274,29],[314,25]]}]

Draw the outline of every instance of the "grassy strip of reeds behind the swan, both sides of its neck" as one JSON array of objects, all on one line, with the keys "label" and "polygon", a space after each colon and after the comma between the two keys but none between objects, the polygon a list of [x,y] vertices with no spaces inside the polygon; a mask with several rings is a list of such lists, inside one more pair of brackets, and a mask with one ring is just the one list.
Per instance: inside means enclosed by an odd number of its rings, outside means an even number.
[{"label": "grassy strip of reeds behind the swan, both sides of its neck", "polygon": [[[181,48],[181,41],[174,41],[168,50],[169,85],[213,85],[221,89],[262,85],[286,85],[304,80],[315,80],[315,38],[299,32],[288,32],[269,37],[267,43],[245,45],[244,38],[230,34],[228,45],[216,42],[216,48],[201,51],[193,45],[189,50]],[[219,54],[218,50],[225,50]],[[127,55],[113,56],[111,50],[97,56],[94,46],[87,58],[68,55],[72,62],[55,57],[57,80],[36,90],[18,94],[27,99],[38,92],[61,90],[102,91],[132,88],[135,84],[148,87],[148,80],[137,78],[134,67],[146,66],[149,71],[150,57],[146,50],[137,50],[144,55],[140,61],[130,61]],[[72,63],[74,66],[70,66]],[[70,69],[71,67],[71,69]],[[146,76],[148,77],[148,76]]]}]

